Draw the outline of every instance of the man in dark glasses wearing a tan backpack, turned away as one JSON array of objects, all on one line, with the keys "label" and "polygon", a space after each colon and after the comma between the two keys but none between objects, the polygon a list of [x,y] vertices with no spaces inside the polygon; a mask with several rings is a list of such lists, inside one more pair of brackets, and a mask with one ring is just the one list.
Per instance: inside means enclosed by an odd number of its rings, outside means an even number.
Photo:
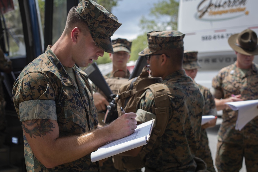
[{"label": "man in dark glasses wearing a tan backpack, turned away", "polygon": [[[131,152],[134,156],[140,154],[146,172],[195,172],[197,169],[194,157],[199,149],[204,99],[198,86],[182,69],[184,36],[179,31],[148,32],[148,47],[139,53],[146,57],[151,75],[162,77],[162,84],[170,99],[169,107],[166,107],[166,113],[169,115],[167,124],[164,124],[164,134],[155,138],[152,132],[150,140],[156,141],[151,150],[148,150],[147,144],[140,147],[142,149],[137,148]],[[136,120],[139,123],[152,118],[157,120],[156,122],[162,120],[162,117],[156,117],[155,111],[159,110],[159,107],[155,107],[153,94],[147,89],[141,96],[136,112]]]}]

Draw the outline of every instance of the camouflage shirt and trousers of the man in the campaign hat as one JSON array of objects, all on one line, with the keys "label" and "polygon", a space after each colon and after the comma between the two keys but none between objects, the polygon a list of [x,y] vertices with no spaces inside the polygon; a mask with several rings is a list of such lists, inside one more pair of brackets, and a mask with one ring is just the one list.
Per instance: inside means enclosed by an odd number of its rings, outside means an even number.
[{"label": "camouflage shirt and trousers of the man in the campaign hat", "polygon": [[[258,99],[258,65],[253,63],[246,73],[236,67],[236,62],[222,68],[213,78],[212,87],[216,99],[229,98],[231,94],[241,94],[243,100]],[[218,132],[216,167],[218,171],[239,171],[244,156],[247,171],[257,171],[258,117],[239,131],[235,129],[237,115],[238,111],[229,108],[223,110],[223,121]]]}]

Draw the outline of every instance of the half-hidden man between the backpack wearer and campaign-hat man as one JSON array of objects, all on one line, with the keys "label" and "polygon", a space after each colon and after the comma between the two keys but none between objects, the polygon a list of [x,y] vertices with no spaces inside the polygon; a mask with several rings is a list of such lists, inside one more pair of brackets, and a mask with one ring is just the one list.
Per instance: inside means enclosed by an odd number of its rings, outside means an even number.
[{"label": "half-hidden man between the backpack wearer and campaign-hat man", "polygon": [[[186,71],[186,75],[195,79],[198,69],[201,65],[197,61],[197,51],[184,51],[183,69]],[[196,83],[204,97],[204,112],[203,115],[217,116],[217,110],[215,107],[214,96],[211,94],[208,88]],[[209,149],[209,141],[206,133],[206,128],[214,127],[216,125],[217,118],[203,124],[201,126],[200,137],[200,149],[196,152],[196,157],[201,158],[206,162],[207,170],[210,172],[216,172],[213,166],[213,160],[211,156],[211,150]]]}]

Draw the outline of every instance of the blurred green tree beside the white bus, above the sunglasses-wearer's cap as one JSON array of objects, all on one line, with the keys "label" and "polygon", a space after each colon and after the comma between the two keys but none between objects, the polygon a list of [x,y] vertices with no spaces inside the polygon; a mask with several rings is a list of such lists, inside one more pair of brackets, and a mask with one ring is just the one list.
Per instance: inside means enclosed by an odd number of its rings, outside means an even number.
[{"label": "blurred green tree beside the white bus, above the sunglasses-wearer's cap", "polygon": [[146,31],[152,30],[177,30],[178,0],[162,0],[154,3],[149,15],[154,16],[154,20],[148,20],[142,16],[140,27]]}]

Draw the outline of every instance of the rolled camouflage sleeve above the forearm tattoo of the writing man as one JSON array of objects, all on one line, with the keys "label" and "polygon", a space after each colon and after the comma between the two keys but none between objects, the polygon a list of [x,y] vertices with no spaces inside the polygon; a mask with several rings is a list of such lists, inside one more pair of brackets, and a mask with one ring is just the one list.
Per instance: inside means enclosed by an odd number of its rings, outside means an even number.
[{"label": "rolled camouflage sleeve above the forearm tattoo of the writing man", "polygon": [[42,72],[20,76],[13,86],[13,102],[20,121],[32,119],[57,120],[55,107],[56,86]]}]

